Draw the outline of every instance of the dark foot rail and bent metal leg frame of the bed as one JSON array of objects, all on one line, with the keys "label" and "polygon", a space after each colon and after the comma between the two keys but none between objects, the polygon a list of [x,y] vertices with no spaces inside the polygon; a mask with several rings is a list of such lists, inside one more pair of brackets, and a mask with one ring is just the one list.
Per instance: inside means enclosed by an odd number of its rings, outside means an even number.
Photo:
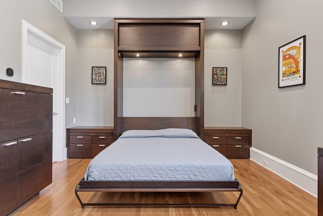
[{"label": "dark foot rail and bent metal leg frame of the bed", "polygon": [[[240,192],[235,203],[84,203],[79,192]],[[209,206],[234,207],[242,197],[242,186],[234,181],[85,181],[75,188],[75,195],[85,206]]]}]

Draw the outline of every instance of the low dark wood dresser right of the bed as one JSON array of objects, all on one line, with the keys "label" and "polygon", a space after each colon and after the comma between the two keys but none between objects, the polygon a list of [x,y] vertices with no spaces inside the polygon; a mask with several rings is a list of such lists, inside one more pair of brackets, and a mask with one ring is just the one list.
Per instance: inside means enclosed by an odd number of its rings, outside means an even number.
[{"label": "low dark wood dresser right of the bed", "polygon": [[227,158],[249,158],[252,130],[244,127],[204,127],[204,141]]}]

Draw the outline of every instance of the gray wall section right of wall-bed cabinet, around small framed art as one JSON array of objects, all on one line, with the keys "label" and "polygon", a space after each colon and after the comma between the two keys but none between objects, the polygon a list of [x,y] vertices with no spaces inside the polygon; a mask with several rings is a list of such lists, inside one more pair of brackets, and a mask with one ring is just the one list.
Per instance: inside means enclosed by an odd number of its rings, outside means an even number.
[{"label": "gray wall section right of wall-bed cabinet, around small framed art", "polygon": [[[206,30],[204,125],[241,125],[241,30]],[[227,67],[227,85],[212,85],[212,68]]]}]

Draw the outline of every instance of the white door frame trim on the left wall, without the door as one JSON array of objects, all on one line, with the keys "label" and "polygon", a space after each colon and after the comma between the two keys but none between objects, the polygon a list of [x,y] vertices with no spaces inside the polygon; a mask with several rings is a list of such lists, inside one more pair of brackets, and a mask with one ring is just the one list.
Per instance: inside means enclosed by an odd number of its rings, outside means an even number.
[{"label": "white door frame trim on the left wall, without the door", "polygon": [[[57,51],[57,84],[58,87],[53,90],[57,94],[57,111],[59,115],[55,116],[57,131],[53,131],[53,137],[56,143],[53,143],[53,162],[63,161],[67,158],[66,128],[65,128],[65,45],[56,39],[50,37],[30,23],[22,20],[22,82],[29,84],[29,61],[28,61],[28,35],[44,42]],[[54,75],[54,74],[53,74]],[[55,111],[55,110],[53,110]],[[55,125],[53,125],[54,127]]]}]

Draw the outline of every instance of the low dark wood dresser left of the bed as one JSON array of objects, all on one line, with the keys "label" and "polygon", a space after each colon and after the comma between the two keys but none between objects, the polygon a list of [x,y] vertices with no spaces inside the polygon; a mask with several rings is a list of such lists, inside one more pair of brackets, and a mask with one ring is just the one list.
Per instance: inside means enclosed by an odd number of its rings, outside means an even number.
[{"label": "low dark wood dresser left of the bed", "polygon": [[68,158],[93,158],[113,143],[112,126],[76,126],[66,129]]}]

